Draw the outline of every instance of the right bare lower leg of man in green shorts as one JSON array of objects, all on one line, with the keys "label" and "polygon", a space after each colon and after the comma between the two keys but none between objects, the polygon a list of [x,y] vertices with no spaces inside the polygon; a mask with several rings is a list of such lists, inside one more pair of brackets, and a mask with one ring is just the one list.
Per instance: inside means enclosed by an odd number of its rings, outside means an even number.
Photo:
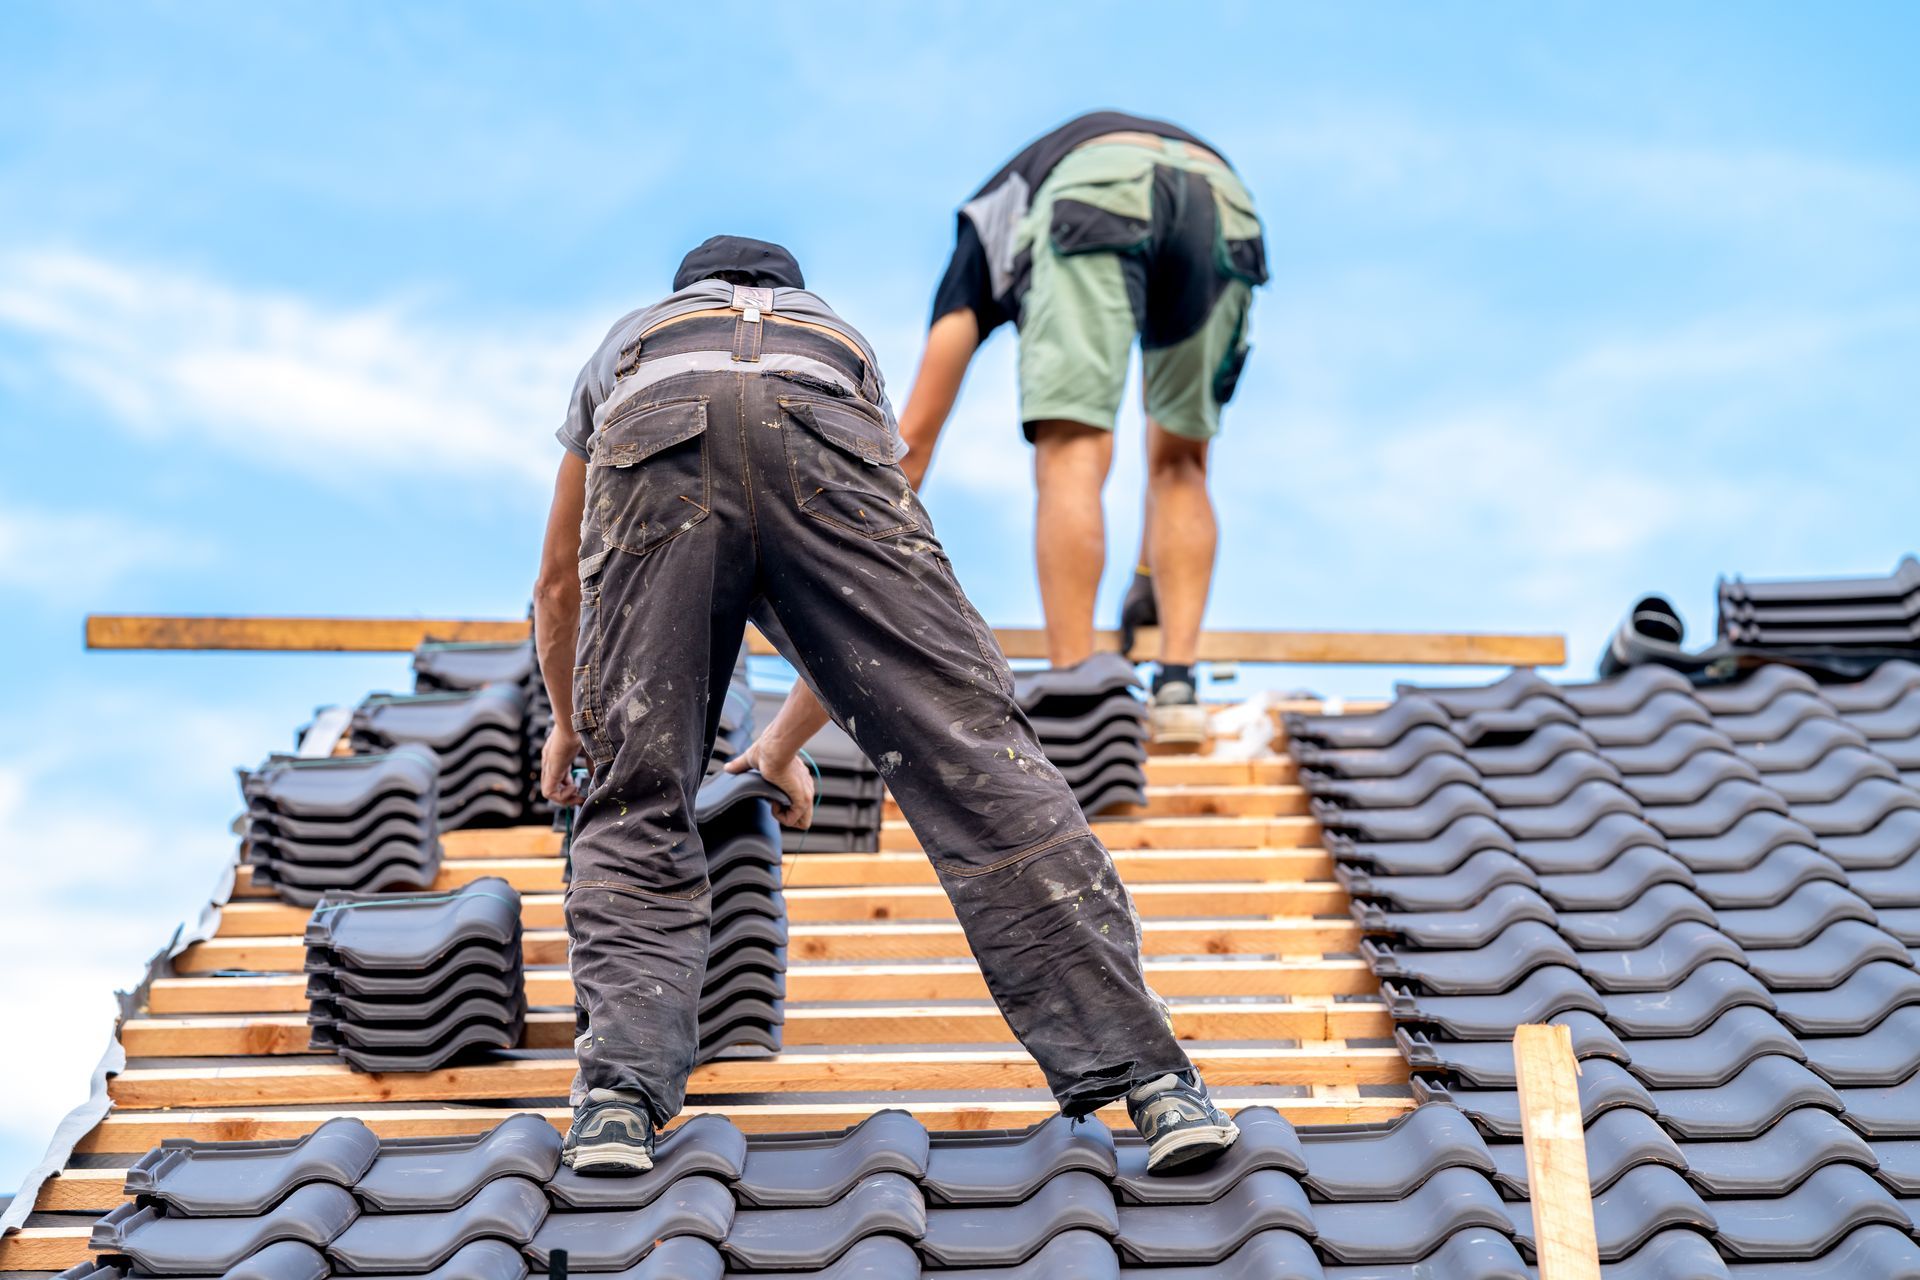
[{"label": "right bare lower leg of man in green shorts", "polygon": [[1200,656],[1200,620],[1213,585],[1219,530],[1206,491],[1206,441],[1146,422],[1146,547],[1160,601],[1160,660]]}]

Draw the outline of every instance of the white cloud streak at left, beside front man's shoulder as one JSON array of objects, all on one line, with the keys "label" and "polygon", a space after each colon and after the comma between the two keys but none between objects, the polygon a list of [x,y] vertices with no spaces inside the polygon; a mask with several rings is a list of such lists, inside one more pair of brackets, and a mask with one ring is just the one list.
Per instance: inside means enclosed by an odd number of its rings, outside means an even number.
[{"label": "white cloud streak at left, beside front man's shoulder", "polygon": [[123,426],[303,474],[551,476],[551,430],[599,330],[328,309],[75,251],[0,255],[0,326]]}]

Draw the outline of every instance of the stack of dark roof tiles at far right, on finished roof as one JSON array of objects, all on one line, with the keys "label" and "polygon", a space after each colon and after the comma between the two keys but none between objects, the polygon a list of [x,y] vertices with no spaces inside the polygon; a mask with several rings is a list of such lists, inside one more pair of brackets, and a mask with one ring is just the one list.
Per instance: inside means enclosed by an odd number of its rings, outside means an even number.
[{"label": "stack of dark roof tiles at far right, on finished roof", "polygon": [[1720,635],[1768,649],[1920,649],[1920,560],[1884,578],[1720,580]]}]

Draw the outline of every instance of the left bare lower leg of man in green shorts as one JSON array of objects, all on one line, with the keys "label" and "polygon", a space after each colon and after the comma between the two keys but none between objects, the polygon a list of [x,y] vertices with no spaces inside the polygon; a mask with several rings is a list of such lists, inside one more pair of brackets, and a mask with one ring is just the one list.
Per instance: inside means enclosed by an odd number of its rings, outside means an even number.
[{"label": "left bare lower leg of man in green shorts", "polygon": [[1092,656],[1092,603],[1106,568],[1100,491],[1112,464],[1114,432],[1083,422],[1033,424],[1033,558],[1054,666]]}]

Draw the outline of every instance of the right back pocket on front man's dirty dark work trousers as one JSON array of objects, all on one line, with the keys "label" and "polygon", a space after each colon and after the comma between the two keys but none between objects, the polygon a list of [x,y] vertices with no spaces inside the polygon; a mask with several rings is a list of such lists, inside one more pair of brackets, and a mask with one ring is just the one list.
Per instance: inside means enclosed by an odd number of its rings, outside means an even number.
[{"label": "right back pocket on front man's dirty dark work trousers", "polygon": [[912,487],[895,466],[900,439],[854,399],[780,397],[787,472],[801,514],[860,537],[920,528]]}]

